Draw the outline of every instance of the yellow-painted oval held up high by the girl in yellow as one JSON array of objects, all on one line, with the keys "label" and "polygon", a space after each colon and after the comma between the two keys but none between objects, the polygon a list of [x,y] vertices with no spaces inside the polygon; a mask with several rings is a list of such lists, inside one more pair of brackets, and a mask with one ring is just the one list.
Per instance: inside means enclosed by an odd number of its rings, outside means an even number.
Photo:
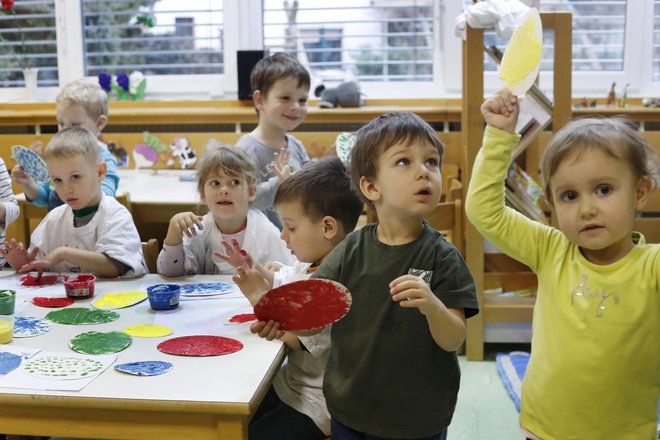
[{"label": "yellow-painted oval held up high by the girl in yellow", "polygon": [[543,26],[536,8],[530,8],[511,35],[500,64],[500,79],[516,95],[524,95],[539,74]]}]

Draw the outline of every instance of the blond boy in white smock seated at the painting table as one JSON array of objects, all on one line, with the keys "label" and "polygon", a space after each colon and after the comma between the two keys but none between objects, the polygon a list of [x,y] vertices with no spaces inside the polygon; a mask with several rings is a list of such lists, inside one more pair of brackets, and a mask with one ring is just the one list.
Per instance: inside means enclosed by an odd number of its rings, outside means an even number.
[{"label": "blond boy in white smock seated at the painting table", "polygon": [[92,272],[100,277],[146,273],[142,245],[128,210],[101,192],[106,163],[95,136],[84,128],[57,133],[44,154],[65,205],[53,209],[32,233],[32,251],[14,240],[2,251],[19,272]]}]

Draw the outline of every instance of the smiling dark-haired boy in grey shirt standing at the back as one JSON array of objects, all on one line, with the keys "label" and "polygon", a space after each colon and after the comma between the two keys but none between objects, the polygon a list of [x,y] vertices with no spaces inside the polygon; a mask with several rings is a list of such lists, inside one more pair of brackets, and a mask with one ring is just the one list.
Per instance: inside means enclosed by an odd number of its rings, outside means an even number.
[{"label": "smiling dark-haired boy in grey shirt standing at the back", "polygon": [[291,55],[276,53],[254,66],[250,86],[259,124],[236,146],[257,164],[253,206],[281,230],[282,221],[274,204],[277,187],[309,162],[302,142],[287,134],[307,116],[309,72]]}]

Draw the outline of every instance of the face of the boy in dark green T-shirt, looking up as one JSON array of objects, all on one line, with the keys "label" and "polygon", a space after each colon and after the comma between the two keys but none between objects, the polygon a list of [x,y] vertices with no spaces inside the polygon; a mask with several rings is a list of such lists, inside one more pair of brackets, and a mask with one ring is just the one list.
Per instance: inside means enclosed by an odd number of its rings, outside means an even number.
[{"label": "face of the boy in dark green T-shirt, looking up", "polygon": [[440,154],[428,142],[398,143],[378,158],[377,176],[360,188],[384,215],[424,216],[440,201]]}]

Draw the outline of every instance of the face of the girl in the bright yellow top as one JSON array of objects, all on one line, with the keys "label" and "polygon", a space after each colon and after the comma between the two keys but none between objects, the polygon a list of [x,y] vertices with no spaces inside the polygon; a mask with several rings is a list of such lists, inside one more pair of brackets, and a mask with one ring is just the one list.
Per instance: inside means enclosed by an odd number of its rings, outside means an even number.
[{"label": "face of the girl in the bright yellow top", "polygon": [[567,156],[550,178],[559,229],[589,261],[619,260],[633,247],[635,211],[646,201],[643,182],[597,148]]}]

